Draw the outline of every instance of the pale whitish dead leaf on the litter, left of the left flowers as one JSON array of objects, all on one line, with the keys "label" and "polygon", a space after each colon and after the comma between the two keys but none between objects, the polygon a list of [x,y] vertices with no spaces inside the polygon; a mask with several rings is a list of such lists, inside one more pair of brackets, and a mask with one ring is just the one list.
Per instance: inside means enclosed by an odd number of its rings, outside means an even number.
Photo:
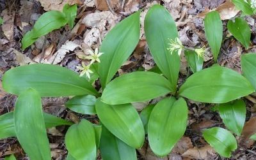
[{"label": "pale whitish dead leaf on the litter, left of the left flowers", "polygon": [[68,52],[74,51],[77,47],[80,47],[80,45],[77,45],[73,41],[66,41],[66,43],[62,45],[61,48],[54,55],[52,55],[47,63],[58,64],[63,60]]}]

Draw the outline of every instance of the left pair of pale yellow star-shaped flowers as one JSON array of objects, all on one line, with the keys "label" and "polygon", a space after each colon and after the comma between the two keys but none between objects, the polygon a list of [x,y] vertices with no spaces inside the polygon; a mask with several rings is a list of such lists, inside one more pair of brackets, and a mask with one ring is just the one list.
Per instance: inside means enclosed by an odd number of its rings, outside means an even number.
[{"label": "left pair of pale yellow star-shaped flowers", "polygon": [[93,73],[93,71],[90,69],[90,66],[93,64],[93,62],[100,62],[100,55],[103,53],[99,52],[98,48],[95,48],[95,51],[92,52],[92,50],[87,50],[88,56],[85,56],[84,59],[90,60],[90,64],[87,66],[82,62],[82,66],[77,66],[76,68],[81,70],[80,76],[83,76],[86,74],[86,76],[90,79],[90,73]]}]

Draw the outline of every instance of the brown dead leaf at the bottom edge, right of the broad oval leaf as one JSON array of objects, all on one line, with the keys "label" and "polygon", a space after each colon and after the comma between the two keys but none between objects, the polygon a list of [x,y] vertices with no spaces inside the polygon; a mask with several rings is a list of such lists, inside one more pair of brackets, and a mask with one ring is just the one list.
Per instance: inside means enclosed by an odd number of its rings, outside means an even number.
[{"label": "brown dead leaf at the bottom edge, right of the broad oval leaf", "polygon": [[191,159],[213,159],[216,156],[214,149],[210,145],[205,145],[204,147],[193,147],[187,150],[182,157],[188,157]]}]

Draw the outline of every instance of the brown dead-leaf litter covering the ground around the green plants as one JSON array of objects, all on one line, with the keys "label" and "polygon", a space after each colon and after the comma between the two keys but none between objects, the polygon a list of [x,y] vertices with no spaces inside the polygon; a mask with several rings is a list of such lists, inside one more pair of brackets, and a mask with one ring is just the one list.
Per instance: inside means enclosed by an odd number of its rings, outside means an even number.
[{"label": "brown dead-leaf litter covering the ground around the green plants", "polygon": [[[218,64],[234,69],[241,73],[241,54],[256,52],[256,19],[253,16],[245,17],[252,29],[251,47],[245,50],[227,31],[227,20],[239,15],[234,5],[228,0],[109,0],[108,5],[104,0],[0,0],[0,13],[4,24],[0,26],[0,80],[3,74],[10,68],[32,63],[52,63],[77,71],[85,53],[81,48],[100,47],[100,43],[108,31],[120,20],[134,11],[141,10],[141,38],[138,46],[129,60],[118,70],[119,75],[143,68],[145,71],[155,65],[145,41],[143,20],[148,8],[153,4],[162,4],[170,11],[175,19],[179,37],[186,47],[207,48],[204,55],[204,68],[211,66],[213,57],[204,34],[204,15],[210,10],[218,10],[223,20],[224,41],[221,46]],[[31,47],[21,50],[21,39],[35,24],[35,21],[48,10],[61,10],[66,3],[77,3],[76,25],[70,30],[68,26],[52,31],[39,38]],[[157,23],[157,22],[156,22]],[[75,47],[74,47],[75,46]],[[79,47],[77,47],[79,46]],[[63,48],[66,48],[63,51]],[[191,75],[184,55],[181,59],[179,82]],[[13,110],[17,96],[7,94],[1,88],[0,83],[0,115]],[[96,116],[74,113],[64,104],[68,98],[43,98],[43,108],[47,113],[57,115],[63,119],[79,121],[81,118],[97,120]],[[256,128],[256,99],[244,98],[246,101],[245,128]],[[147,103],[136,103],[136,109],[142,110]],[[154,156],[147,142],[142,149],[137,150],[138,159],[224,159],[221,158],[202,138],[202,129],[220,126],[225,127],[220,115],[211,110],[212,105],[188,101],[189,119],[185,135],[177,143],[169,156],[159,158]],[[65,159],[67,149],[64,145],[64,137],[67,127],[55,127],[48,129],[49,142],[53,159]],[[243,135],[245,136],[245,135]],[[238,148],[231,159],[256,159],[256,147],[253,141],[236,137]],[[254,145],[253,145],[254,143]],[[9,154],[15,154],[18,159],[28,159],[16,138],[0,140],[0,160]],[[99,157],[100,159],[100,157]]]}]

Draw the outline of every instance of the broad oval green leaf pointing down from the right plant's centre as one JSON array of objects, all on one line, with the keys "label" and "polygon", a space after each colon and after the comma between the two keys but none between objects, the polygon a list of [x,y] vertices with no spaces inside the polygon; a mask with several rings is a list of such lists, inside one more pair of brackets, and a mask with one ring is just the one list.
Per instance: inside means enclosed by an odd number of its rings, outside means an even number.
[{"label": "broad oval green leaf pointing down from the right plant's centre", "polygon": [[188,106],[183,98],[165,98],[152,110],[148,121],[148,141],[157,156],[166,156],[184,135]]}]

